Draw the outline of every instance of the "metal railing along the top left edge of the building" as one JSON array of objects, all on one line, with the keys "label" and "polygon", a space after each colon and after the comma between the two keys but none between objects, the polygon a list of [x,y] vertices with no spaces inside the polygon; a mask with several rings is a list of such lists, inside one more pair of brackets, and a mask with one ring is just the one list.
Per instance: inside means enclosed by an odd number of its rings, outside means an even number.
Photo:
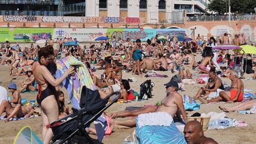
[{"label": "metal railing along the top left edge of the building", "polygon": [[58,5],[60,0],[0,0],[0,4],[40,4],[40,5]]}]

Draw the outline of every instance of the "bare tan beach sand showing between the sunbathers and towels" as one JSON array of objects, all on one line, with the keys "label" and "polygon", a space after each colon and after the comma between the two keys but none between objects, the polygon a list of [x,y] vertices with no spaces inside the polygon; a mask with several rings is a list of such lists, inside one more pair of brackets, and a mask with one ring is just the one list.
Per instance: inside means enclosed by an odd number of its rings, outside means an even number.
[{"label": "bare tan beach sand showing between the sunbathers and towels", "polygon": [[[197,56],[197,59],[200,59],[199,56]],[[197,60],[199,61],[199,60]],[[0,66],[1,69],[1,75],[0,75],[0,81],[2,81],[2,86],[7,88],[7,85],[9,84],[9,70],[7,66]],[[97,71],[95,72],[97,75],[100,75],[103,71]],[[196,71],[191,71],[196,72]],[[167,83],[172,75],[170,71],[168,72],[159,72],[161,74],[166,74],[169,77],[168,78],[145,78],[144,76],[133,76],[137,79],[137,82],[131,82],[131,89],[139,92],[139,85],[142,84],[142,82],[146,81],[146,79],[151,79],[152,82],[155,83],[155,87],[153,87],[153,98],[145,101],[132,101],[132,103],[121,103],[121,104],[113,104],[110,108],[107,109],[107,113],[110,111],[121,111],[124,110],[126,107],[130,106],[136,106],[136,107],[142,107],[145,104],[156,104],[157,101],[161,101],[165,97],[165,87],[164,84]],[[176,72],[177,73],[177,72]],[[123,73],[123,78],[127,79],[132,76],[132,73]],[[245,75],[245,78],[249,78],[251,75]],[[20,76],[18,79],[15,79],[14,82],[16,84],[20,84],[20,81],[22,81],[25,78],[25,76]],[[193,78],[194,80],[196,78]],[[228,78],[222,78],[223,82],[227,82],[228,84],[231,84],[231,81]],[[256,81],[248,81],[243,80],[244,85],[246,89],[252,89],[252,92],[255,91],[255,82]],[[180,92],[181,95],[189,95],[193,97],[196,95],[196,92],[200,87],[204,85],[201,84],[195,84],[195,85],[185,85],[185,91]],[[19,87],[19,85],[18,85]],[[62,90],[65,92],[66,101],[68,101],[68,97],[66,94],[66,89]],[[8,92],[8,95],[11,95],[10,92]],[[22,98],[27,98],[27,100],[36,100],[36,94],[21,94]],[[225,103],[214,103],[214,104],[202,104],[199,110],[196,111],[187,111],[187,115],[190,116],[193,113],[209,113],[210,111],[215,111],[217,113],[222,113],[223,111],[219,110],[219,105],[236,105],[236,104],[225,104]],[[71,107],[71,105],[69,105]],[[225,113],[226,116],[232,119],[236,120],[244,120],[248,126],[247,127],[230,127],[228,129],[223,130],[207,130],[204,132],[204,135],[207,137],[212,137],[215,139],[218,143],[255,143],[256,137],[256,124],[255,124],[255,114],[239,114],[237,112],[234,113]],[[33,119],[25,119],[20,121],[9,121],[8,123],[4,123],[4,121],[0,121],[0,143],[13,143],[14,138],[17,135],[18,131],[24,127],[24,126],[30,126],[34,133],[36,133],[37,136],[41,139],[41,127],[42,127],[42,120],[41,117],[33,118]],[[107,136],[103,139],[103,143],[123,143],[123,140],[125,137],[131,135],[133,133],[133,129],[129,130],[121,130],[121,129],[114,129],[114,132],[111,133],[110,136]],[[91,135],[95,138],[94,135]]]}]

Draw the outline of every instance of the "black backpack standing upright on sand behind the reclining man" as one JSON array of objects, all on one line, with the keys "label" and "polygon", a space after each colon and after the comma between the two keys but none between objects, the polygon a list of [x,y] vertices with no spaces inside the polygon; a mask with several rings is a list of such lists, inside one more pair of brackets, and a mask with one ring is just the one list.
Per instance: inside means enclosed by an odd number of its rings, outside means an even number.
[{"label": "black backpack standing upright on sand behind the reclining man", "polygon": [[146,80],[140,85],[140,95],[139,99],[148,100],[148,98],[152,98],[152,91],[154,87],[154,83],[151,82],[151,79]]}]

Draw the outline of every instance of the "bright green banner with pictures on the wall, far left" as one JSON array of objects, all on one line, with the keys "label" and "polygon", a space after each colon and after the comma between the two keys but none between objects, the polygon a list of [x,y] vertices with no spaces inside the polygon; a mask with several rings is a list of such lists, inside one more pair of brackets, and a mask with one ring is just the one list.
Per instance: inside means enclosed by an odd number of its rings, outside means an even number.
[{"label": "bright green banner with pictures on the wall, far left", "polygon": [[37,41],[52,38],[53,28],[0,28],[0,42]]}]

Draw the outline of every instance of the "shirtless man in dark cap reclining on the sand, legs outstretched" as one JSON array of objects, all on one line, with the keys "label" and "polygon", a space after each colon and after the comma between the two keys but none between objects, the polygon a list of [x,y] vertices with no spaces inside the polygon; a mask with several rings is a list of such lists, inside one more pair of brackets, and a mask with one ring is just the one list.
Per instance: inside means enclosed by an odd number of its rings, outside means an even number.
[{"label": "shirtless man in dark cap reclining on the sand, legs outstretched", "polygon": [[110,120],[110,122],[117,129],[130,129],[136,126],[136,117],[133,117],[132,119],[125,120],[125,121],[117,121],[117,120],[113,120],[113,118],[138,116],[139,114],[143,114],[143,113],[153,113],[153,112],[159,112],[159,111],[164,111],[168,114],[171,114],[172,117],[175,117],[175,114],[176,114],[177,118],[180,120],[181,120],[181,117],[180,117],[180,111],[181,111],[184,121],[187,122],[186,120],[187,114],[185,113],[185,110],[184,110],[183,98],[177,92],[178,83],[174,81],[170,81],[167,84],[165,84],[165,86],[166,86],[165,88],[167,89],[167,97],[165,97],[164,100],[161,101],[161,105],[159,105],[158,107],[156,107],[155,105],[146,105],[145,107],[140,108],[139,110],[120,111],[116,113],[111,113],[110,117],[112,119]]}]

